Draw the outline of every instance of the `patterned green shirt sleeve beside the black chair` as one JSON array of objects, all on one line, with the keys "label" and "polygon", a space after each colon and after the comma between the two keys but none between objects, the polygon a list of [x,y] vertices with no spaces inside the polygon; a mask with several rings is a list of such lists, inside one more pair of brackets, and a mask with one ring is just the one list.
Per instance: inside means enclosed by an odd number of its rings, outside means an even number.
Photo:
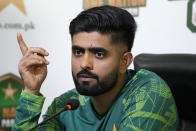
[{"label": "patterned green shirt sleeve beside the black chair", "polygon": [[154,77],[136,85],[123,99],[119,131],[177,131],[178,113],[167,84]]}]

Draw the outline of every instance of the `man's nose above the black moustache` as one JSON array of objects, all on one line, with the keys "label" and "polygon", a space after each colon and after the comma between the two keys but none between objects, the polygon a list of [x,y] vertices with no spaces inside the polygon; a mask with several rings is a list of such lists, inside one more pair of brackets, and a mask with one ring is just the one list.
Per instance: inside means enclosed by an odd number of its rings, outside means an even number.
[{"label": "man's nose above the black moustache", "polygon": [[82,69],[93,70],[93,58],[90,53],[86,53],[82,59],[81,63]]}]

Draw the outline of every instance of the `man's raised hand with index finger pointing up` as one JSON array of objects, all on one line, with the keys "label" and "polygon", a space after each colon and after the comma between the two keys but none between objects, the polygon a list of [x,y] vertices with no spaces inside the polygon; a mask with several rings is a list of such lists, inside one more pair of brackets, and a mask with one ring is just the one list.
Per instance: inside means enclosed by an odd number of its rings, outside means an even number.
[{"label": "man's raised hand with index finger pointing up", "polygon": [[38,95],[41,84],[46,78],[49,64],[44,56],[48,56],[49,53],[39,47],[28,48],[20,33],[17,34],[17,40],[23,55],[18,64],[18,70],[24,81],[24,90]]}]

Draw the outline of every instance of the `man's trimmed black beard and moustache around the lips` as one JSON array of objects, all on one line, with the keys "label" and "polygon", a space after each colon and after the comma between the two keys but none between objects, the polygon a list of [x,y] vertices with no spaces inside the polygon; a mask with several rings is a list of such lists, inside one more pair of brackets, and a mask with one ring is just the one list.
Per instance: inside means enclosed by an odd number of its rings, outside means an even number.
[{"label": "man's trimmed black beard and moustache around the lips", "polygon": [[[84,69],[81,70],[79,73],[77,73],[76,76],[74,76],[72,72],[72,77],[76,86],[76,90],[81,94],[85,96],[97,96],[100,94],[104,94],[111,89],[113,89],[116,85],[116,82],[118,80],[118,70],[114,70],[113,72],[106,75],[102,81],[99,80],[98,75],[91,73],[90,71]],[[79,84],[78,78],[81,74],[87,74],[90,77],[96,79],[97,83],[90,86],[89,82],[83,82],[82,84]]]}]

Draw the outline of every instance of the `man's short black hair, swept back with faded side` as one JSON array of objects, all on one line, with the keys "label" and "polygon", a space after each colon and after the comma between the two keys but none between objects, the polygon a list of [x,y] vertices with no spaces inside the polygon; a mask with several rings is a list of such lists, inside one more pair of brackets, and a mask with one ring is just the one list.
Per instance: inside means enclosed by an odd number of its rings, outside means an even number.
[{"label": "man's short black hair, swept back with faded side", "polygon": [[123,42],[131,51],[136,28],[136,22],[128,11],[105,5],[82,11],[71,21],[69,32],[71,38],[80,32],[111,33],[111,43]]}]

